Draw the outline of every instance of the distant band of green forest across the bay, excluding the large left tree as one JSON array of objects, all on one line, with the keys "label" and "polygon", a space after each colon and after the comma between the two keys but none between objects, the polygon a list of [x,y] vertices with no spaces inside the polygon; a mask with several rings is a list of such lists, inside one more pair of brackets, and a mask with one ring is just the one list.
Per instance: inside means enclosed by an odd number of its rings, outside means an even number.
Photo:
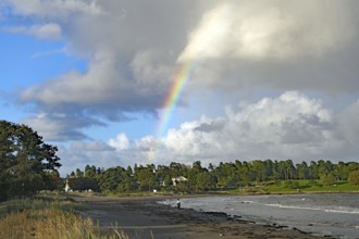
[{"label": "distant band of green forest across the bay, excluding the large left tree", "polygon": [[[101,192],[133,191],[207,191],[234,189],[298,179],[320,180],[323,185],[348,180],[357,184],[358,162],[311,161],[294,164],[292,160],[255,160],[250,162],[221,162],[203,167],[200,161],[191,166],[172,162],[170,165],[137,165],[134,168],[117,166],[108,169],[87,165],[67,176],[72,190]],[[355,177],[356,176],[356,177]],[[313,183],[314,184],[314,183]],[[317,183],[315,183],[317,184]],[[297,184],[287,184],[297,187]]]}]

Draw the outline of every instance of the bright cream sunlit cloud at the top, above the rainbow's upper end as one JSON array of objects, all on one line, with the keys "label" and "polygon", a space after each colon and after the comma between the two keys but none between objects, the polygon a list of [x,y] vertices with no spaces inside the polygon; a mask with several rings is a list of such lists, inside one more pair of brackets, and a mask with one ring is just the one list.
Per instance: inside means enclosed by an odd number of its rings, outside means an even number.
[{"label": "bright cream sunlit cloud at the top, above the rainbow's upper end", "polygon": [[180,61],[321,55],[356,34],[342,2],[221,1],[190,34]]}]

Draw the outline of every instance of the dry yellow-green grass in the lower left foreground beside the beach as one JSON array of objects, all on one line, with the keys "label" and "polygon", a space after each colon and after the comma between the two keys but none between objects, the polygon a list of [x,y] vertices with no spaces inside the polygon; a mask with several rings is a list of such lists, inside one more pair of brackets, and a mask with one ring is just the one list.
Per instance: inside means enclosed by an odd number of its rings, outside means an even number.
[{"label": "dry yellow-green grass in the lower left foreground beside the beach", "polygon": [[24,199],[0,204],[0,238],[128,238],[117,228],[101,231],[91,219],[79,216],[85,205],[67,199]]}]

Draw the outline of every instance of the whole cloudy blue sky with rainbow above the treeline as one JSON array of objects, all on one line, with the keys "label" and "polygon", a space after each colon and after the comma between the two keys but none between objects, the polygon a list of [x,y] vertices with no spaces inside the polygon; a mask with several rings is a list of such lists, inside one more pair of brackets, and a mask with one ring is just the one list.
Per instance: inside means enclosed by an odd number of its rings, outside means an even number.
[{"label": "whole cloudy blue sky with rainbow above the treeline", "polygon": [[97,167],[356,161],[359,1],[2,0],[0,118]]}]

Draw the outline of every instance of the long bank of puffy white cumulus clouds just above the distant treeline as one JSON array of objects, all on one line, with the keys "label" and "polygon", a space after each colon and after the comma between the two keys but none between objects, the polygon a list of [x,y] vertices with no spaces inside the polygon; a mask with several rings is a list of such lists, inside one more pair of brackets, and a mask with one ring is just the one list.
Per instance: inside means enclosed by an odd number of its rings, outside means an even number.
[{"label": "long bank of puffy white cumulus clouds just above the distant treeline", "polygon": [[[121,133],[108,140],[108,147],[97,141],[77,142],[61,149],[61,155],[82,159],[78,163],[82,168],[86,164],[109,167],[135,163],[191,164],[197,160],[203,165],[265,159],[352,161],[359,153],[358,105],[356,102],[334,113],[318,99],[287,91],[275,98],[240,103],[237,109],[228,108],[222,117],[201,116],[185,122],[160,139],[146,136],[129,141]],[[67,158],[65,165],[70,164]]]}]

